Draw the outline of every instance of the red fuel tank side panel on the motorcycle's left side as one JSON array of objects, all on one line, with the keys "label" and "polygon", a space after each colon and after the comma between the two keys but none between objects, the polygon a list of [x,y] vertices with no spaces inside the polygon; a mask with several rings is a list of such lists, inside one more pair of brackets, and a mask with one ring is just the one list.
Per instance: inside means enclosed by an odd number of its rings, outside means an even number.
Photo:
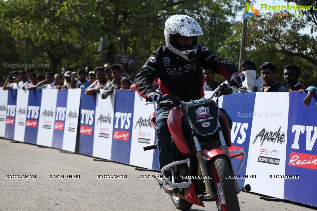
[{"label": "red fuel tank side panel on the motorcycle's left side", "polygon": [[182,118],[183,114],[181,113],[180,109],[174,108],[170,111],[168,114],[168,129],[170,130],[172,139],[174,140],[174,143],[176,144],[178,150],[185,154],[190,154],[191,151],[189,150],[184,135],[183,135],[183,129],[182,129]]}]

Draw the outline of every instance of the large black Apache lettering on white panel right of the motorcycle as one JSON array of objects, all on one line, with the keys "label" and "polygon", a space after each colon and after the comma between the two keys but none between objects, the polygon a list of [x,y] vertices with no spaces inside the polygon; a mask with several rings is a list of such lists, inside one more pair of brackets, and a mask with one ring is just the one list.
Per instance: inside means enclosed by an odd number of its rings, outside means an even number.
[{"label": "large black Apache lettering on white panel right of the motorcycle", "polygon": [[258,133],[254,139],[254,141],[252,142],[252,144],[254,144],[256,142],[256,140],[258,138],[260,138],[260,142],[261,142],[261,145],[263,144],[263,142],[266,140],[267,142],[272,142],[273,144],[276,143],[280,143],[280,144],[283,144],[285,142],[285,133],[281,133],[281,127],[280,126],[278,128],[278,131],[265,131],[265,127],[260,131],[260,133]]}]

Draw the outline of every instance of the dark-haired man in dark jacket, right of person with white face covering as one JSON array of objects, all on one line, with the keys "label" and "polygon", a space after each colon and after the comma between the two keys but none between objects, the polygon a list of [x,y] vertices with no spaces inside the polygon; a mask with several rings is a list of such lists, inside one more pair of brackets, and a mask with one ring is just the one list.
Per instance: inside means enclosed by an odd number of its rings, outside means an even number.
[{"label": "dark-haired man in dark jacket, right of person with white face covering", "polygon": [[260,67],[263,84],[261,92],[286,92],[286,88],[274,80],[275,65],[272,62],[265,62]]}]

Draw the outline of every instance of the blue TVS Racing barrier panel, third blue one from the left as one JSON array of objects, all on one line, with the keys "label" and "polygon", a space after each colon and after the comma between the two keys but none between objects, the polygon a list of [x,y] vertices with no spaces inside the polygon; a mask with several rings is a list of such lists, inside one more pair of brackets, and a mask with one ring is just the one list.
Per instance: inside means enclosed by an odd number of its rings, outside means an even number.
[{"label": "blue TVS Racing barrier panel, third blue one from the left", "polygon": [[67,95],[68,95],[68,89],[59,89],[57,91],[52,147],[55,147],[58,149],[62,149],[63,147]]}]

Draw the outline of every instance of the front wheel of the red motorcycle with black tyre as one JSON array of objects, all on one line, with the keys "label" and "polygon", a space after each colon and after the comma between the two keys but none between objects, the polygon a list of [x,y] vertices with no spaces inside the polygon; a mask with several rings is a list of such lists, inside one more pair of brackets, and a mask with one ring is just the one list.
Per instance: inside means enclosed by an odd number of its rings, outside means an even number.
[{"label": "front wheel of the red motorcycle with black tyre", "polygon": [[223,155],[218,155],[209,163],[211,165],[210,170],[214,181],[215,201],[218,210],[240,211],[234,179],[226,179],[226,176],[232,176],[227,159]]}]

